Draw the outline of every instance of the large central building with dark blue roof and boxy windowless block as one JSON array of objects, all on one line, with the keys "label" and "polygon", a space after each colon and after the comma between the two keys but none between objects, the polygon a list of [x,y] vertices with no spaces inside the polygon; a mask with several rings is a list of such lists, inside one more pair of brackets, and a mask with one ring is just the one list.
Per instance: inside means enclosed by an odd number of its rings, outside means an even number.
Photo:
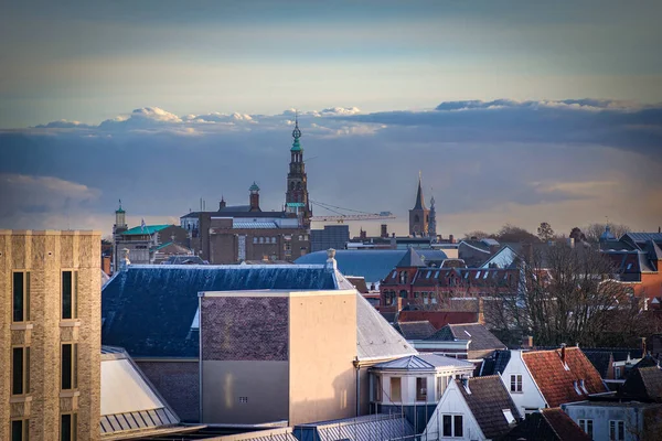
[{"label": "large central building with dark blue roof and boxy windowless block", "polygon": [[[200,292],[216,292],[202,298],[209,300],[207,311],[218,313],[211,322],[199,305]],[[218,302],[232,303],[232,308],[220,309]],[[248,304],[255,308],[246,309]],[[200,421],[201,410],[204,418],[216,420],[212,422],[223,417],[212,410],[207,413],[204,407],[207,399],[217,402],[220,396],[200,389],[201,381],[218,381],[217,375],[210,375],[214,369],[232,373],[227,383],[220,384],[224,399],[255,412],[242,418],[311,418],[307,421],[311,422],[342,418],[343,412],[365,415],[367,369],[416,354],[337,270],[334,259],[307,266],[129,265],[104,287],[103,320],[104,344],[126,348],[183,421]],[[210,342],[204,337],[205,323],[207,330],[225,327],[206,334]],[[225,338],[226,344],[214,338]],[[205,344],[210,351],[204,349]],[[211,364],[205,367],[207,362]],[[246,367],[252,364],[264,369]],[[290,383],[288,370],[309,384],[297,378]],[[269,384],[270,391],[242,392],[245,387],[253,390],[250,384],[239,380],[250,372],[256,375],[252,381]],[[263,374],[268,378],[261,378]],[[311,377],[318,374],[327,379]],[[335,379],[329,381],[332,374]],[[269,404],[270,409],[260,410]],[[220,406],[227,405],[223,401]]]}]

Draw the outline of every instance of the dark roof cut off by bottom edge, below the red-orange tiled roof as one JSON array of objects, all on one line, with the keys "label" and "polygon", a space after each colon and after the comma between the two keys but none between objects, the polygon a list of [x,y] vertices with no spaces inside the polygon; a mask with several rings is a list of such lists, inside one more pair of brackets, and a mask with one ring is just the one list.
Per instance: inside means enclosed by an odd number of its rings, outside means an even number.
[{"label": "dark roof cut off by bottom edge, below the red-orange tiled roof", "polygon": [[579,426],[559,408],[543,409],[526,417],[501,441],[590,441]]}]

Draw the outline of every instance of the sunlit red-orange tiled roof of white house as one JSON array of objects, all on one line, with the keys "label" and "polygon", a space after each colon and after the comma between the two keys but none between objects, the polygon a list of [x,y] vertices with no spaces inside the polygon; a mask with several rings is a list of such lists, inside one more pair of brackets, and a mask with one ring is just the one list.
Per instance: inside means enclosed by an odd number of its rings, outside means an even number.
[{"label": "sunlit red-orange tiled roof of white house", "polygon": [[[522,359],[549,407],[581,401],[587,399],[587,395],[608,391],[600,374],[578,347],[565,349],[567,369],[560,359],[560,349],[553,349],[522,354]],[[588,394],[581,389],[581,380]],[[575,384],[579,394],[575,389]]]}]

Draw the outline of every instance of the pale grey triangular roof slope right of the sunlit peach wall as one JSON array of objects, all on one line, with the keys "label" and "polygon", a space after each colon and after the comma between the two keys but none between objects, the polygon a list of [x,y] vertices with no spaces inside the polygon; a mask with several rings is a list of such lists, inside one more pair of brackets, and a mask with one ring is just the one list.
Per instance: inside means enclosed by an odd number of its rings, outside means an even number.
[{"label": "pale grey triangular roof slope right of the sunlit peach wall", "polygon": [[[344,278],[343,278],[344,279]],[[360,293],[356,293],[356,351],[360,361],[388,359],[416,349]]]}]

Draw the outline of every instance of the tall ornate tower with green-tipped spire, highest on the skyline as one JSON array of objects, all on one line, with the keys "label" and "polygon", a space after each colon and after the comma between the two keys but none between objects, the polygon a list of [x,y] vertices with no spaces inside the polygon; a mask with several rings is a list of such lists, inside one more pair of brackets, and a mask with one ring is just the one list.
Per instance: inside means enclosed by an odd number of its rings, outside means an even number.
[{"label": "tall ornate tower with green-tipped spire, highest on the skyline", "polygon": [[285,209],[296,213],[300,223],[306,228],[310,227],[312,212],[308,201],[308,176],[306,175],[306,163],[303,162],[303,149],[299,143],[301,130],[299,129],[299,116],[295,117],[295,141],[290,149],[291,160],[289,173],[287,174],[287,192],[285,194]]}]

